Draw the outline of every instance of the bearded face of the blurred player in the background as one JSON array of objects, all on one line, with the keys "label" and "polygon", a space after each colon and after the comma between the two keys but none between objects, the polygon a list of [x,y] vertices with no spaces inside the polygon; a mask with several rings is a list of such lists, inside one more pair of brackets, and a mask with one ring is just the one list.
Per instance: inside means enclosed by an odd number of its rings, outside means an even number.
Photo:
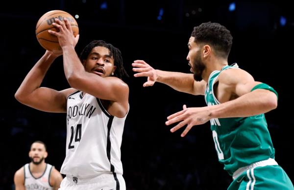
[{"label": "bearded face of the blurred player in the background", "polygon": [[33,164],[41,164],[44,159],[47,157],[47,151],[41,143],[33,143],[31,149],[28,153],[29,158]]}]

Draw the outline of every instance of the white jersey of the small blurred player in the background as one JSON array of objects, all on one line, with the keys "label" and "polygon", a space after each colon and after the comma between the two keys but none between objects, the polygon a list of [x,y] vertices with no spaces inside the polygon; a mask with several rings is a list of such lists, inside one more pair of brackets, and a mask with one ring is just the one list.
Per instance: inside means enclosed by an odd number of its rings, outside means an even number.
[{"label": "white jersey of the small blurred player in the background", "polygon": [[46,164],[46,169],[43,175],[35,178],[29,169],[29,164],[25,164],[25,190],[53,190],[53,187],[49,184],[52,168],[53,166]]}]

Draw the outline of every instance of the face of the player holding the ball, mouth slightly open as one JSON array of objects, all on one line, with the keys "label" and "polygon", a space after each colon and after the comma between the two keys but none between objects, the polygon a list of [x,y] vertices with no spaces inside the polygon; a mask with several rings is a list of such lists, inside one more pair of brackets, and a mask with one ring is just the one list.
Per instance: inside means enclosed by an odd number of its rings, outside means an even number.
[{"label": "face of the player holding the ball, mouth slightly open", "polygon": [[116,66],[114,66],[113,57],[109,54],[109,49],[106,47],[94,47],[88,58],[83,62],[85,70],[100,77],[112,76]]}]

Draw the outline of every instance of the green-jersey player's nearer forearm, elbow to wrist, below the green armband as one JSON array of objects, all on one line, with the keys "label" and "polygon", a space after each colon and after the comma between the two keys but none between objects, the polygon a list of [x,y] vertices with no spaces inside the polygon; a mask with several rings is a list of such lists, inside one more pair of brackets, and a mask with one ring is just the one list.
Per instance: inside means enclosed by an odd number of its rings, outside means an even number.
[{"label": "green-jersey player's nearer forearm, elbow to wrist, below the green armband", "polygon": [[249,117],[269,112],[277,107],[277,97],[273,92],[259,89],[235,100],[216,106],[209,106],[211,118]]}]

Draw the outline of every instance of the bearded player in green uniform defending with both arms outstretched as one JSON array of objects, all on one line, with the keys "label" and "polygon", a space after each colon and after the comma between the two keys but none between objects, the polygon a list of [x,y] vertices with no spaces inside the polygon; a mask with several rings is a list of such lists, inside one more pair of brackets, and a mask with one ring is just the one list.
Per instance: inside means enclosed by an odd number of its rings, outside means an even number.
[{"label": "bearded player in green uniform defending with both arms outstretched", "polygon": [[264,113],[277,107],[277,92],[254,81],[237,64],[228,65],[232,46],[230,32],[219,23],[194,27],[188,42],[187,60],[193,74],[155,70],[142,60],[132,63],[135,77],[147,77],[143,86],[155,82],[177,91],[204,95],[206,107],[183,106],[168,117],[166,125],[178,123],[171,132],[187,126],[211,123],[219,161],[233,177],[228,190],[294,190],[285,171],[274,160]]}]

